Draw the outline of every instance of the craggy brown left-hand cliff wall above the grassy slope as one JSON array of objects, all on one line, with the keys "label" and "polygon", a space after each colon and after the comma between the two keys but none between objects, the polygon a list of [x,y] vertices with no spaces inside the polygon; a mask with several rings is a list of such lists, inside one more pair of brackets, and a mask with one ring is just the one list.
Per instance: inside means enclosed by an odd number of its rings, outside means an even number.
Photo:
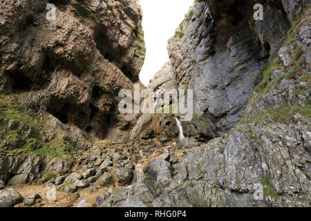
[{"label": "craggy brown left-hand cliff wall above the grassy slope", "polygon": [[[95,137],[122,138],[135,115],[118,115],[144,61],[138,1],[1,2],[0,91],[24,93],[44,111]],[[17,28],[19,27],[19,28]]]}]

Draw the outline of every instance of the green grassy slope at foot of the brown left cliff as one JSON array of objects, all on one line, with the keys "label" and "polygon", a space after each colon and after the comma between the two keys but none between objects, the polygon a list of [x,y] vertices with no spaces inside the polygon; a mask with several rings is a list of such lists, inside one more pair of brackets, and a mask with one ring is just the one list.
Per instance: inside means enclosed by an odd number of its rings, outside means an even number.
[{"label": "green grassy slope at foot of the brown left cliff", "polygon": [[[48,155],[55,158],[72,157],[75,148],[58,131],[53,140],[46,140],[50,129],[44,116],[21,109],[18,104],[23,94],[0,95],[0,151],[19,155]],[[10,127],[8,123],[10,122]]]}]

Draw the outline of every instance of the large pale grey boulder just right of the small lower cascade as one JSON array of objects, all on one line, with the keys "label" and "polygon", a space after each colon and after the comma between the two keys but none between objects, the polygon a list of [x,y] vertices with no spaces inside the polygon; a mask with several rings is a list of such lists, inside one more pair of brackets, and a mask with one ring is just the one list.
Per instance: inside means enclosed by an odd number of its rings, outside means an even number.
[{"label": "large pale grey boulder just right of the small lower cascade", "polygon": [[168,185],[171,182],[171,170],[169,162],[156,159],[147,166],[147,174],[156,182]]}]

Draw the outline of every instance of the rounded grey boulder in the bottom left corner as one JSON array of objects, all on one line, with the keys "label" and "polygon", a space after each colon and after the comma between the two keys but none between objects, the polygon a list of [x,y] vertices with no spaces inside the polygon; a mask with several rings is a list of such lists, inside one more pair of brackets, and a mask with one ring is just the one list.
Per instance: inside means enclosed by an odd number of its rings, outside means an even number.
[{"label": "rounded grey boulder in the bottom left corner", "polygon": [[23,202],[23,198],[12,188],[0,190],[0,207],[12,207]]}]

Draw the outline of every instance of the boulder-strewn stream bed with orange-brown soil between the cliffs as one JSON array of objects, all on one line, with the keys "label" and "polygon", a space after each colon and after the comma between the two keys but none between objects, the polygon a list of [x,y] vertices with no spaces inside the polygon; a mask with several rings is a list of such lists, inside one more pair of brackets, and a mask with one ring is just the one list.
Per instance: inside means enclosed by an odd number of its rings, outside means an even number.
[{"label": "boulder-strewn stream bed with orange-brown soil between the cliffs", "polygon": [[[4,199],[9,200],[6,194],[10,194],[15,206],[153,206],[171,182],[176,164],[198,148],[198,143],[181,145],[97,141],[75,155],[69,173],[45,173],[37,184],[6,186],[0,205],[8,203]],[[50,195],[54,189],[55,198]]]}]

